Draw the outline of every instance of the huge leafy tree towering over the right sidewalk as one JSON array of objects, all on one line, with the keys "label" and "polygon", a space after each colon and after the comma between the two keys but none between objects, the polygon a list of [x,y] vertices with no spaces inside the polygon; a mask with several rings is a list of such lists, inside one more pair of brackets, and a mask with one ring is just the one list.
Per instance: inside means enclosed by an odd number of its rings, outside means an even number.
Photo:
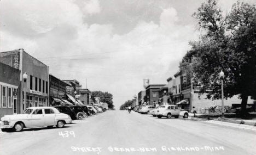
[{"label": "huge leafy tree towering over the right sidewalk", "polygon": [[[222,16],[215,0],[202,3],[193,16],[205,30],[199,41],[190,42],[191,50],[180,64],[208,91],[208,98],[219,99],[219,72],[223,70],[224,97],[240,95],[241,116],[246,115],[248,96],[256,95],[255,5],[240,3]],[[196,60],[196,61],[193,61]]]}]

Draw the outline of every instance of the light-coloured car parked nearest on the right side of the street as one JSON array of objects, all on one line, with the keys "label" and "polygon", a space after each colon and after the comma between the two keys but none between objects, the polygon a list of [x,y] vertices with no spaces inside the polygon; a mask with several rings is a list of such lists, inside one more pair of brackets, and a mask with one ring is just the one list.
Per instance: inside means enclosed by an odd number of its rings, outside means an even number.
[{"label": "light-coloured car parked nearest on the right side of the street", "polygon": [[176,105],[165,105],[160,106],[159,109],[155,113],[156,116],[160,119],[162,116],[170,119],[172,116],[178,118],[179,116],[183,116],[183,118],[187,118],[189,113],[184,109],[179,108]]}]

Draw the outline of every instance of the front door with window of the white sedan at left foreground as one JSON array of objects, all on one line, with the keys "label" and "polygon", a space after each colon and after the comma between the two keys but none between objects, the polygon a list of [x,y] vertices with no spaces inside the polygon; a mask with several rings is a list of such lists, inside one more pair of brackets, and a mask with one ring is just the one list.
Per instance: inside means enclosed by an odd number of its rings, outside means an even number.
[{"label": "front door with window of the white sedan at left foreground", "polygon": [[31,127],[44,126],[43,109],[35,109],[31,115]]}]

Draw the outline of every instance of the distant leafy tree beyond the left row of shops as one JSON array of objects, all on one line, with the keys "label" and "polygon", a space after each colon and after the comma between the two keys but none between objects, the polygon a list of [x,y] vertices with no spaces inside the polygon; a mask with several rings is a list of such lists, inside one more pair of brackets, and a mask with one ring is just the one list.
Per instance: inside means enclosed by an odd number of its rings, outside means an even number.
[{"label": "distant leafy tree beyond the left row of shops", "polygon": [[113,95],[109,92],[92,91],[92,101],[95,101],[94,97],[100,97],[100,102],[107,103],[109,109],[113,109],[115,107],[112,101]]}]

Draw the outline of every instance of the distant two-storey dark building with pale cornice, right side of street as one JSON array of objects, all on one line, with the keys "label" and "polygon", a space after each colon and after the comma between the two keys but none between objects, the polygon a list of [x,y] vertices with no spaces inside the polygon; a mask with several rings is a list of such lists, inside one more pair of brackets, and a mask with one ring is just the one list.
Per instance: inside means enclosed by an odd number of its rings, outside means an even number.
[{"label": "distant two-storey dark building with pale cornice, right side of street", "polygon": [[165,84],[149,84],[146,87],[146,97],[147,99],[147,105],[155,106],[158,103],[159,98],[159,89],[165,86]]}]

